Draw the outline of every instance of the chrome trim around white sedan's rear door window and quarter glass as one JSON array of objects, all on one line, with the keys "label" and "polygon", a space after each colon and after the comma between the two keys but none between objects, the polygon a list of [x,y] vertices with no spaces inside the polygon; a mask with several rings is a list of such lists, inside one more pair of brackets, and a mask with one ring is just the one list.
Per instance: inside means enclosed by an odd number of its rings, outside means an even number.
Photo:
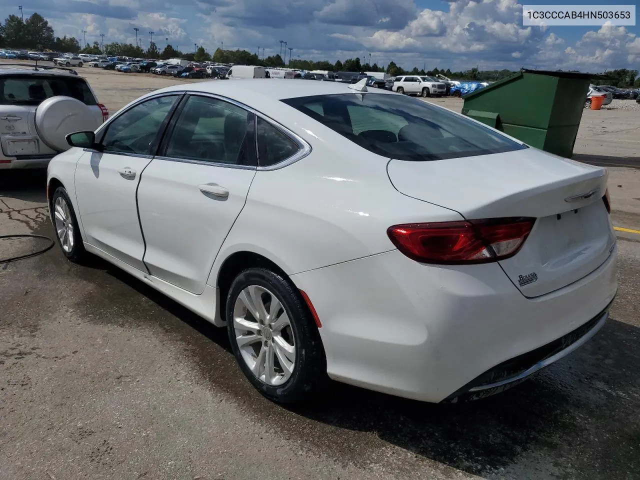
[{"label": "chrome trim around white sedan's rear door window and quarter glass", "polygon": [[[230,103],[230,104],[235,105],[235,106],[237,106],[239,108],[242,108],[242,109],[244,109],[246,111],[249,111],[249,112],[253,113],[253,115],[255,115],[257,118],[262,118],[262,120],[264,120],[265,122],[268,122],[274,128],[278,129],[280,132],[285,134],[287,137],[289,137],[290,140],[294,141],[294,143],[297,143],[298,147],[300,147],[300,148],[298,148],[298,151],[295,154],[293,154],[292,156],[287,157],[284,160],[282,160],[282,161],[280,161],[278,163],[274,163],[273,165],[269,165],[269,166],[247,166],[247,165],[235,165],[235,164],[228,164],[228,163],[212,163],[212,162],[206,162],[206,161],[201,161],[201,160],[188,160],[188,159],[179,159],[179,158],[173,158],[173,157],[156,157],[156,158],[162,158],[163,160],[170,160],[170,161],[182,161],[182,162],[185,162],[185,163],[198,163],[198,164],[206,164],[206,165],[213,165],[213,166],[222,166],[222,167],[227,167],[227,168],[243,168],[243,169],[250,168],[251,170],[259,170],[259,171],[269,172],[271,170],[280,170],[280,168],[284,168],[285,166],[289,166],[292,163],[296,163],[297,161],[299,161],[299,160],[303,159],[304,157],[308,156],[308,154],[310,154],[311,151],[312,151],[311,145],[309,145],[307,143],[307,141],[305,141],[303,138],[301,138],[300,135],[295,134],[291,130],[287,129],[287,127],[285,127],[284,125],[278,124],[278,122],[273,120],[273,118],[269,118],[269,116],[267,116],[266,114],[262,113],[261,111],[258,111],[255,108],[252,108],[252,107],[250,107],[250,106],[248,106],[246,104],[243,104],[242,102],[238,102],[237,100],[230,99],[228,97],[224,97],[223,95],[218,95],[217,93],[194,92],[192,90],[186,90],[186,91],[184,91],[182,93],[187,93],[188,95],[193,95],[193,96],[198,96],[198,97],[211,97],[212,99],[221,100],[223,102]],[[258,153],[257,118],[256,118],[256,133],[255,133],[256,155]],[[258,163],[259,162],[260,162],[260,159],[258,158]]]}]

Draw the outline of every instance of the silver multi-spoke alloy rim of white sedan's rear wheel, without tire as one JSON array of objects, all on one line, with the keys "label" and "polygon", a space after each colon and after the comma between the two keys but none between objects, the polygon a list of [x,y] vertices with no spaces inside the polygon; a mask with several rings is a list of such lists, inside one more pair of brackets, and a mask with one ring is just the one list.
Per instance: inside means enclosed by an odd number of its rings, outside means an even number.
[{"label": "silver multi-spoke alloy rim of white sedan's rear wheel, without tire", "polygon": [[296,362],[293,326],[282,302],[259,285],[249,285],[236,298],[233,327],[237,347],[255,378],[282,385]]}]

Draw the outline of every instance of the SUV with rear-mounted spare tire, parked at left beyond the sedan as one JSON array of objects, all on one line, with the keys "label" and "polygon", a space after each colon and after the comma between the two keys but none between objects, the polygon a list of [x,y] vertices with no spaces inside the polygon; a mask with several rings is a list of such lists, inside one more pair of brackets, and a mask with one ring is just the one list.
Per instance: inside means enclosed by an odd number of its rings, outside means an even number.
[{"label": "SUV with rear-mounted spare tire, parked at left beyond the sedan", "polygon": [[67,134],[108,118],[83,77],[66,70],[0,68],[0,170],[45,168]]}]

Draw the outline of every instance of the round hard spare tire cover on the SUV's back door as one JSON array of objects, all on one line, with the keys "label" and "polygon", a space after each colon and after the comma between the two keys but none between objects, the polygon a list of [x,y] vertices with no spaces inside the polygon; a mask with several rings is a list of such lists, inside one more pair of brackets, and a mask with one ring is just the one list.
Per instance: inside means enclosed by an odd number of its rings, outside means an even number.
[{"label": "round hard spare tire cover on the SUV's back door", "polygon": [[36,109],[36,131],[49,148],[64,152],[70,147],[67,134],[94,131],[99,127],[97,114],[80,100],[59,95],[44,100]]}]

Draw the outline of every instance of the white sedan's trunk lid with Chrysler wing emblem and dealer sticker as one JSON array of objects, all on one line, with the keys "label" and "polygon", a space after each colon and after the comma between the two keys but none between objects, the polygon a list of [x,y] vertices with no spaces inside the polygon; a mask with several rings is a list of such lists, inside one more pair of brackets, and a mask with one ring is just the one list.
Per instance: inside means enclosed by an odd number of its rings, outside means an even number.
[{"label": "white sedan's trunk lid with Chrysler wing emblem and dealer sticker", "polygon": [[615,235],[602,201],[604,168],[536,148],[438,161],[391,160],[389,179],[404,195],[467,220],[532,217],[520,252],[499,264],[533,298],[588,275],[609,258]]}]

